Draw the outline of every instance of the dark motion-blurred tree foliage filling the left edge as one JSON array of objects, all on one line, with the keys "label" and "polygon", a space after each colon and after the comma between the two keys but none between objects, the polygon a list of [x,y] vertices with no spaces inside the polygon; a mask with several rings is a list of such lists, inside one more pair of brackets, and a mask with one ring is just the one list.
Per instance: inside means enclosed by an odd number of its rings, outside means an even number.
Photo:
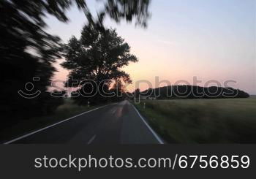
[{"label": "dark motion-blurred tree foliage filling the left edge", "polygon": [[[17,121],[50,113],[56,107],[53,104],[61,104],[47,92],[55,71],[52,63],[59,58],[59,37],[44,31],[43,18],[45,13],[51,13],[64,21],[66,18],[61,12],[66,7],[67,4],[46,4],[45,1],[0,1],[2,120]],[[41,95],[26,99],[18,91],[24,91],[24,85],[33,77],[39,77],[34,89],[41,91]]]}]

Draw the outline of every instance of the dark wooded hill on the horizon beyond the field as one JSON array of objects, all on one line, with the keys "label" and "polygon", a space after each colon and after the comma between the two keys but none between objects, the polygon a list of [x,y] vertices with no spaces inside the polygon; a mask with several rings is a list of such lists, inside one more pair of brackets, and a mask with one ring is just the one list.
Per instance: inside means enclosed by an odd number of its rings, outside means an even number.
[{"label": "dark wooded hill on the horizon beyond the field", "polygon": [[234,88],[217,86],[200,87],[195,85],[169,85],[161,88],[148,88],[146,91],[136,90],[133,96],[140,95],[148,99],[222,99],[248,98],[249,94]]}]

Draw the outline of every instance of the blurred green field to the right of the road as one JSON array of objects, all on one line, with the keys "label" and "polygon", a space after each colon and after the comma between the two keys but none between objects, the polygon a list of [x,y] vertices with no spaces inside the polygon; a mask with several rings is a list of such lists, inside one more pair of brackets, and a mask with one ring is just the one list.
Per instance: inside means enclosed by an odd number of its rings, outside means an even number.
[{"label": "blurred green field to the right of the road", "polygon": [[136,106],[170,143],[256,143],[256,98],[253,97],[146,100]]}]

